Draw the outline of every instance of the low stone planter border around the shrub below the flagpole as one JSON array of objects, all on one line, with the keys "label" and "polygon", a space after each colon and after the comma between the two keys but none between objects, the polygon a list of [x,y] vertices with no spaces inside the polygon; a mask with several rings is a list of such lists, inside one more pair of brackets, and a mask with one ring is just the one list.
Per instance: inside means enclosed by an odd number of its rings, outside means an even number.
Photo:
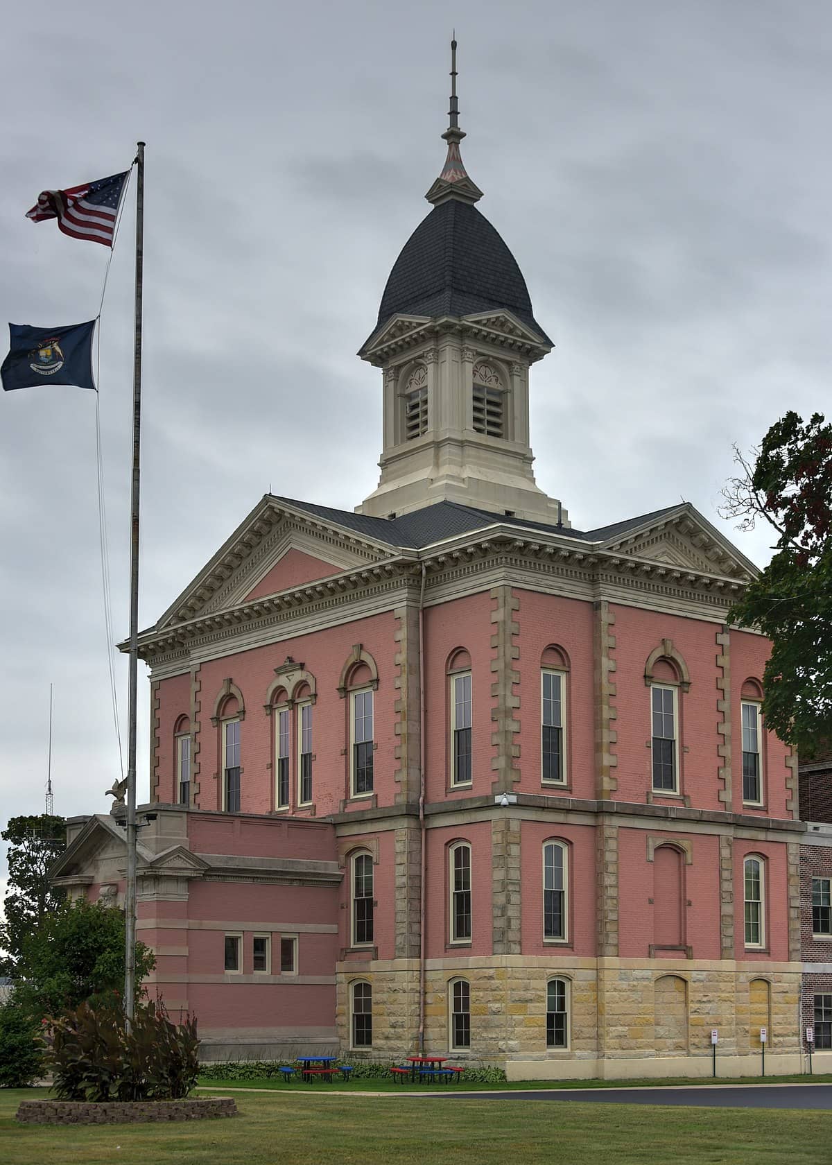
[{"label": "low stone planter border around the shrub below the flagpole", "polygon": [[22,1124],[144,1124],[148,1121],[202,1121],[212,1116],[237,1116],[237,1104],[231,1096],[99,1102],[23,1100],[17,1109]]}]

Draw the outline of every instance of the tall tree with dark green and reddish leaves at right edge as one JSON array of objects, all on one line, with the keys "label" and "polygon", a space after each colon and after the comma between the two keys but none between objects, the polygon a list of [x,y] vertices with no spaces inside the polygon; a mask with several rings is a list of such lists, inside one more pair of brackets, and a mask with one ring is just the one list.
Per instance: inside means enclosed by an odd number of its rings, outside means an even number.
[{"label": "tall tree with dark green and reddish leaves at right edge", "polygon": [[734,452],[741,473],[722,492],[722,513],[740,517],[741,530],[764,518],[777,541],[728,617],[771,641],[766,722],[811,757],[832,740],[832,424],[818,412],[805,423],[787,412],[763,437],[754,466]]}]

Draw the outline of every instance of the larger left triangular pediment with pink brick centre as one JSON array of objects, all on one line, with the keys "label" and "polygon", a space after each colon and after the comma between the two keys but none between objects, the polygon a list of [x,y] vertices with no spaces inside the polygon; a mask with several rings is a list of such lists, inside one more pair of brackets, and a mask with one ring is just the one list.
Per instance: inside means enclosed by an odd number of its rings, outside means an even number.
[{"label": "larger left triangular pediment with pink brick centre", "polygon": [[178,595],[155,629],[357,570],[390,553],[389,546],[372,538],[267,496]]}]

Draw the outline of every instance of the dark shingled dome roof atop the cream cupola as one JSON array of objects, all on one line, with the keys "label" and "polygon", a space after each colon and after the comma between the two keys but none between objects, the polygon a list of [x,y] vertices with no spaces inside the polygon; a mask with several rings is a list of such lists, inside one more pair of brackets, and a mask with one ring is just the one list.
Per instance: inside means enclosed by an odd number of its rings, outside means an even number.
[{"label": "dark shingled dome roof atop the cream cupola", "polygon": [[419,223],[393,264],[376,331],[400,312],[471,316],[493,308],[507,308],[551,344],[512,252],[475,206],[450,198]]}]

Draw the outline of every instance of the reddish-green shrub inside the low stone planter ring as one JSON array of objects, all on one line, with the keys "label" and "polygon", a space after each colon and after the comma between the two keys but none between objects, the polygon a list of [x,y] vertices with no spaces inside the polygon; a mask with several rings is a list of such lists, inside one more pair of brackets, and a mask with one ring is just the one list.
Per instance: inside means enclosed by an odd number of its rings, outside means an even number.
[{"label": "reddish-green shrub inside the low stone planter ring", "polygon": [[169,1018],[164,1005],[136,1005],[128,1032],[115,1002],[82,1003],[49,1021],[44,1065],[61,1100],[178,1100],[198,1073],[197,1022]]}]

